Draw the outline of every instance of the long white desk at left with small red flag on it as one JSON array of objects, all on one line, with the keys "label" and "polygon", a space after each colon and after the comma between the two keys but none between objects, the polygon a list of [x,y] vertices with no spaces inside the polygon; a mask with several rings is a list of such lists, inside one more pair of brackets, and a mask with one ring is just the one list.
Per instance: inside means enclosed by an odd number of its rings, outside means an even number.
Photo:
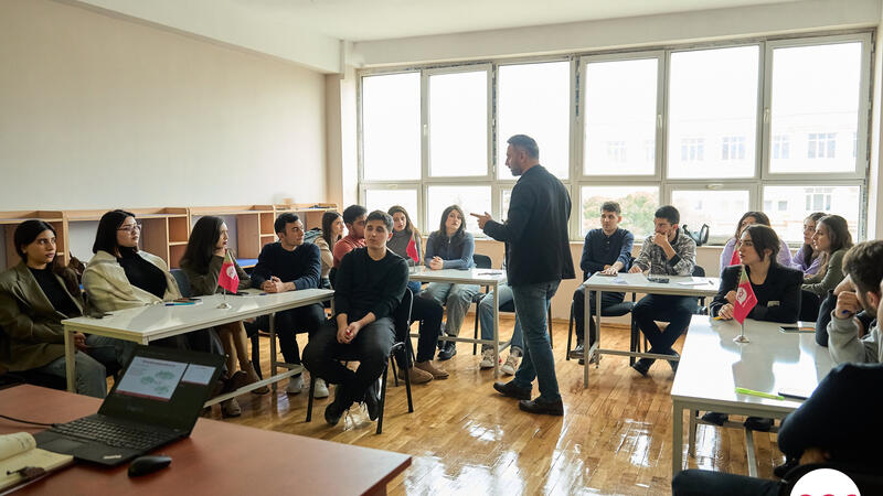
[{"label": "long white desk at left with small red flag on it", "polygon": [[[221,294],[213,294],[211,296],[200,296],[202,303],[194,305],[166,306],[163,303],[158,303],[135,309],[118,310],[103,319],[81,316],[62,321],[64,325],[67,390],[76,390],[74,384],[76,363],[74,360],[75,347],[73,333],[96,334],[99,336],[116,337],[118,339],[148,344],[151,341],[177,336],[191,331],[199,331],[228,322],[236,322],[268,313],[306,306],[312,303],[320,303],[330,300],[334,292],[323,289],[307,289],[288,291],[285,293],[259,294],[257,290],[249,290],[248,292],[241,292],[241,294],[243,295],[226,296],[226,302],[231,305],[230,309],[219,309],[217,305],[224,301],[224,296]],[[251,384],[233,392],[215,397],[206,405],[214,405],[266,385],[272,385],[275,390],[277,381],[304,370],[304,367],[300,365],[279,364],[276,362],[276,325],[274,321],[275,319],[269,320],[272,377]],[[288,368],[288,370],[277,375],[276,370],[280,366]]]}]

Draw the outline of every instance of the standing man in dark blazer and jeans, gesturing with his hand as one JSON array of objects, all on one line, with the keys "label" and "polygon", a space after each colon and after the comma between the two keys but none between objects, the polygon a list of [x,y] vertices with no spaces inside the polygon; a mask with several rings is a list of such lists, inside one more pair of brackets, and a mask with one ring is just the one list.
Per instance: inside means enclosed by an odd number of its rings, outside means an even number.
[{"label": "standing man in dark blazer and jeans, gesturing with his hand", "polygon": [[[555,377],[555,358],[546,334],[546,310],[562,279],[573,279],[567,237],[571,196],[554,175],[540,165],[536,141],[524,134],[509,138],[506,165],[521,176],[512,188],[506,224],[485,215],[478,227],[506,242],[506,273],[515,301],[515,316],[524,332],[524,358],[510,382],[494,382],[503,396],[518,398],[531,413],[564,414]],[[533,379],[540,396],[531,400]]]}]

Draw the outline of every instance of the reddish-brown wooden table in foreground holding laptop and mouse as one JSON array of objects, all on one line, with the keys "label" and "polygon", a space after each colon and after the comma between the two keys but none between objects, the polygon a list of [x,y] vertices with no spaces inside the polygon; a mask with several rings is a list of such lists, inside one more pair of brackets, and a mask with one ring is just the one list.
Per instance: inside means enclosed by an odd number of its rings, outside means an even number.
[{"label": "reddish-brown wooden table in foreground holding laptop and mouse", "polygon": [[[35,422],[68,422],[95,413],[100,400],[36,386],[0,390],[0,413]],[[42,428],[0,419],[0,434]],[[411,456],[199,419],[190,438],[156,451],[169,468],[129,478],[128,465],[77,463],[17,494],[46,495],[383,495]]]}]

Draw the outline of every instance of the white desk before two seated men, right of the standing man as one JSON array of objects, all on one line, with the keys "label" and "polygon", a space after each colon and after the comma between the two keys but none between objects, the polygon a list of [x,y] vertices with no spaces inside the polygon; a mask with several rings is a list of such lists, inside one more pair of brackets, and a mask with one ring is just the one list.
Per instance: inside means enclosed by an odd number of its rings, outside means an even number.
[{"label": "white desk before two seated men, right of the standing man", "polygon": [[[586,325],[583,326],[584,335],[583,335],[583,343],[588,343],[588,320],[591,319],[591,310],[588,298],[591,292],[595,292],[595,330],[596,330],[596,339],[595,344],[592,345],[589,348],[585,346],[583,348],[583,359],[585,362],[585,366],[583,369],[583,387],[588,387],[588,365],[589,359],[588,357],[592,356],[593,353],[597,353],[595,355],[594,360],[595,364],[598,363],[598,357],[600,354],[605,355],[620,355],[620,356],[634,356],[634,357],[641,357],[641,358],[657,358],[657,359],[672,359],[669,355],[659,355],[653,353],[637,353],[637,352],[624,352],[621,349],[602,349],[600,348],[600,293],[609,292],[609,293],[646,293],[646,294],[671,294],[671,295],[679,295],[679,296],[714,296],[717,294],[717,287],[721,285],[721,280],[719,278],[692,278],[690,276],[659,276],[667,278],[669,282],[650,282],[647,280],[647,277],[643,273],[620,273],[616,277],[613,276],[600,276],[598,272],[595,272],[591,278],[588,278],[585,282],[583,282],[583,287],[585,288],[585,313],[584,313],[584,321]],[[691,281],[694,279],[703,279],[706,282],[702,284],[691,284],[685,285],[682,282]]]}]

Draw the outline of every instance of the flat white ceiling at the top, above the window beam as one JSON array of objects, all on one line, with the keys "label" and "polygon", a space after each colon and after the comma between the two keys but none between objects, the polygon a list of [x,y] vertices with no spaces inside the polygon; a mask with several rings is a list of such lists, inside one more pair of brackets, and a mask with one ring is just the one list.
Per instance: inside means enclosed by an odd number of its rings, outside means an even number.
[{"label": "flat white ceiling at the top, above the window beam", "polygon": [[345,41],[372,41],[724,9],[796,0],[221,0]]}]

